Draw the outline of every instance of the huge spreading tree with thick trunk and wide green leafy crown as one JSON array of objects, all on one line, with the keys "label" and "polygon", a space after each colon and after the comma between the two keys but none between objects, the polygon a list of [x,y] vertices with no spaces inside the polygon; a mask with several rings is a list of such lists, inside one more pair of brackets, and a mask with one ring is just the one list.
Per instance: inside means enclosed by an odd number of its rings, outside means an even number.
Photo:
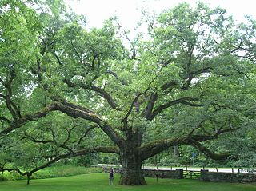
[{"label": "huge spreading tree with thick trunk and wide green leafy crown", "polygon": [[255,141],[253,18],[181,3],[131,39],[115,18],[86,30],[59,0],[0,7],[2,171],[22,156],[40,158],[16,169],[30,177],[60,158],[118,153],[120,184],[143,185],[142,161],[171,146],[237,160],[232,139]]}]

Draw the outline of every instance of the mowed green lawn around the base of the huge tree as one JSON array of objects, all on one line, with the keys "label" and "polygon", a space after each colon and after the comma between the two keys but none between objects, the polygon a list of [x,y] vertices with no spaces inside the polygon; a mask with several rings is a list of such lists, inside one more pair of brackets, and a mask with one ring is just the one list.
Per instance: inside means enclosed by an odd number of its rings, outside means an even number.
[{"label": "mowed green lawn around the base of the huge tree", "polygon": [[114,178],[114,185],[108,185],[107,173],[90,173],[73,177],[58,177],[41,180],[0,182],[1,191],[108,191],[108,190],[145,190],[145,191],[255,191],[256,184],[230,184],[202,182],[198,180],[174,180],[146,178],[147,185],[118,185],[119,176]]}]

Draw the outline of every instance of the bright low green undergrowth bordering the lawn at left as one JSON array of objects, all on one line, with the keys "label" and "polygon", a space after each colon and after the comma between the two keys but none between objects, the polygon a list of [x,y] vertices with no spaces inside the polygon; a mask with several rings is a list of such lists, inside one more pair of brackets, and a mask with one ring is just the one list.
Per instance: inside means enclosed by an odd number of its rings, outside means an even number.
[{"label": "bright low green undergrowth bordering the lawn at left", "polygon": [[[85,173],[102,173],[102,168],[84,167],[74,165],[54,165],[46,169],[39,170],[34,173],[31,179],[43,179],[50,177],[69,177]],[[0,175],[0,181],[15,181],[24,180],[26,177],[19,175],[16,172],[5,172]]]}]

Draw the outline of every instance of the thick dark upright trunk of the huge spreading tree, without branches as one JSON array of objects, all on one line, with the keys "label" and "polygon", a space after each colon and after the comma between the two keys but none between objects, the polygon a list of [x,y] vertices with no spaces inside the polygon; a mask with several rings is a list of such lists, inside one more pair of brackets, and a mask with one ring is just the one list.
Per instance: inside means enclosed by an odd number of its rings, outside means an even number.
[{"label": "thick dark upright trunk of the huge spreading tree, without branches", "polygon": [[146,185],[142,174],[142,158],[138,151],[138,146],[142,143],[142,133],[129,132],[126,137],[126,145],[120,149],[122,172],[119,184]]}]

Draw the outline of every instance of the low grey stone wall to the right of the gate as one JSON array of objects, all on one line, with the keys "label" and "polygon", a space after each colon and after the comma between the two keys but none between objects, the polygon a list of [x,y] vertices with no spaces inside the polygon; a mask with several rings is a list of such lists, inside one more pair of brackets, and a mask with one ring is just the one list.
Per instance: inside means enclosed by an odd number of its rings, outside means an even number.
[{"label": "low grey stone wall to the right of the gate", "polygon": [[256,174],[253,173],[216,173],[208,170],[201,170],[201,181],[216,182],[256,182]]}]

